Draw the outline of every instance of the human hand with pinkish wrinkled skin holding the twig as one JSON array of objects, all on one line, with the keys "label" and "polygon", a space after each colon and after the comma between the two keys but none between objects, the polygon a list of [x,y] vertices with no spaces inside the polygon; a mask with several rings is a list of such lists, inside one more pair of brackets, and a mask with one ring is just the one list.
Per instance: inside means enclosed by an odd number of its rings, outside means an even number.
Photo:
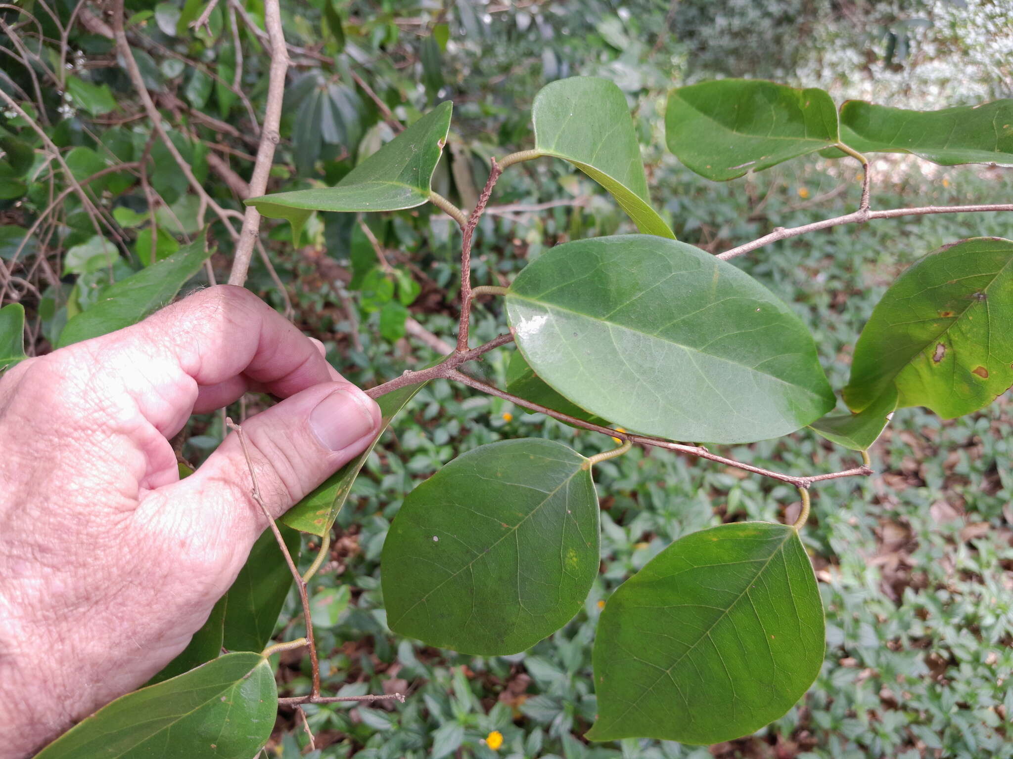
[{"label": "human hand with pinkish wrinkled skin holding the twig", "polygon": [[0,378],[0,757],[22,757],[179,654],[266,527],[230,435],[180,481],[168,438],[247,390],[277,517],[376,435],[319,343],[218,286]]}]

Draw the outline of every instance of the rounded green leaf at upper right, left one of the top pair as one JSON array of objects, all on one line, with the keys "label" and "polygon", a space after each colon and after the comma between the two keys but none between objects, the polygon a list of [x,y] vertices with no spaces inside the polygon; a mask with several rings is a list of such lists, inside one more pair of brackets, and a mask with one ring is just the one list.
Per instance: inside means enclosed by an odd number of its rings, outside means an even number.
[{"label": "rounded green leaf at upper right, left one of the top pair", "polygon": [[837,108],[824,90],[754,79],[720,79],[672,90],[665,134],[680,161],[717,181],[840,141]]}]

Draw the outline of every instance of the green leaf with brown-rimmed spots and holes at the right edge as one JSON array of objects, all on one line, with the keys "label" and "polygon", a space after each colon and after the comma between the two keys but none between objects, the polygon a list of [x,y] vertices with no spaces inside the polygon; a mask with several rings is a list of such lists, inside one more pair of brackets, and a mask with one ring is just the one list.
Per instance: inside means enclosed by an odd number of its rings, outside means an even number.
[{"label": "green leaf with brown-rimmed spots and holes at the right edge", "polygon": [[943,246],[890,285],[855,345],[844,400],[862,411],[893,384],[898,408],[926,406],[944,419],[1013,384],[1013,242]]}]

